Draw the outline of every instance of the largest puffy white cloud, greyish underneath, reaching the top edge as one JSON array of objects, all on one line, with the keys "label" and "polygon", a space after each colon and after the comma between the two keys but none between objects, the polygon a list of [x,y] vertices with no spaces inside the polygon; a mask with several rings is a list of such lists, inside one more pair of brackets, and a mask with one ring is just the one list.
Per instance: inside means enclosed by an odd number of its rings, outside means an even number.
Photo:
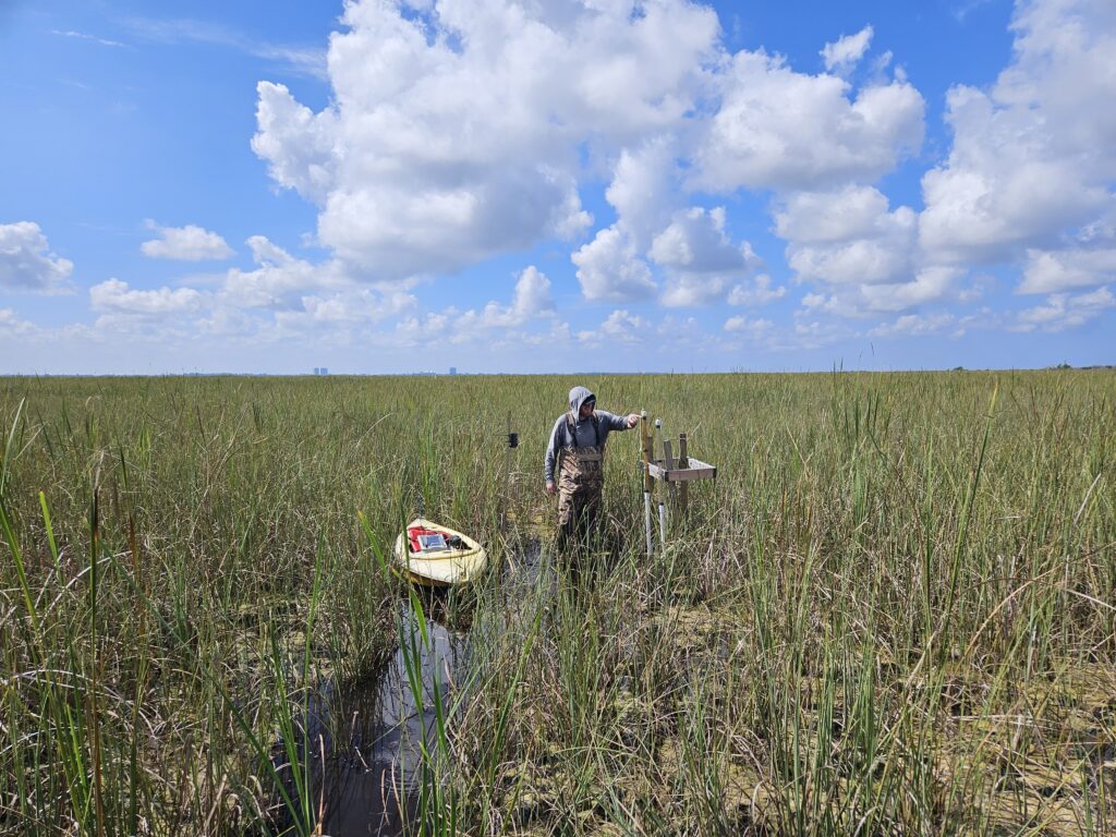
[{"label": "largest puffy white cloud, greyish underneath, reaching the top edge", "polygon": [[350,3],[330,40],[334,104],[312,114],[261,84],[253,148],[318,204],[320,242],[377,278],[580,235],[585,145],[677,124],[716,49],[708,8],[629,11]]}]

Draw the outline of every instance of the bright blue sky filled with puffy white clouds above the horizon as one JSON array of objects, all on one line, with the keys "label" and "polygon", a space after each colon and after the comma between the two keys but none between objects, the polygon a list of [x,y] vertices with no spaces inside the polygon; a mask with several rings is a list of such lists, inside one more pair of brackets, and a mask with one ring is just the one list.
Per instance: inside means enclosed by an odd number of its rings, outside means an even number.
[{"label": "bright blue sky filled with puffy white clouds above the horizon", "polygon": [[0,0],[0,374],[1116,363],[1112,0]]}]

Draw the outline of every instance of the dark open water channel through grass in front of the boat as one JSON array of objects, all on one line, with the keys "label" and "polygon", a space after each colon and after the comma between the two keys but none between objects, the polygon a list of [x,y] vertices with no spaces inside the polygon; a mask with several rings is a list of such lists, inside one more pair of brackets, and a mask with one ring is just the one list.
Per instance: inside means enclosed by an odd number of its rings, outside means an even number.
[{"label": "dark open water channel through grass in front of the boat", "polygon": [[419,651],[421,705],[402,648],[376,676],[343,687],[327,682],[311,700],[305,739],[309,752],[302,758],[312,766],[310,796],[315,811],[321,808],[324,835],[402,835],[406,822],[414,822],[421,748],[423,742],[430,750],[436,747],[435,693],[448,709],[465,673],[470,644],[465,631],[437,618],[436,602],[429,604],[423,605],[429,644],[420,636],[410,602],[400,604],[404,642],[411,632],[412,647]]}]

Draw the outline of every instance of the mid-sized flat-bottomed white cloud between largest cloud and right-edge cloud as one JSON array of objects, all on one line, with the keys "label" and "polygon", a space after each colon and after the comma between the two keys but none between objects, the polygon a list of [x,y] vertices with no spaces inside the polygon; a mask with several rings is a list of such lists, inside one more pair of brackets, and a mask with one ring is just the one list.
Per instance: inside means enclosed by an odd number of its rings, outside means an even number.
[{"label": "mid-sized flat-bottomed white cloud between largest cloud and right-edge cloud", "polygon": [[696,151],[694,175],[714,192],[873,181],[922,145],[925,104],[899,78],[850,98],[837,76],[795,73],[779,56],[741,51],[720,80],[720,109]]}]

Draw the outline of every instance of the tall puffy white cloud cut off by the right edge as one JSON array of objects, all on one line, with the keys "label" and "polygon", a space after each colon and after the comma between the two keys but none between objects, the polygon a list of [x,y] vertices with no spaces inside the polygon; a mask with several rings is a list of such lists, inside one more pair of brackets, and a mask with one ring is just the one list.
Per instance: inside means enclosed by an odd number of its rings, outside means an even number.
[{"label": "tall puffy white cloud cut off by the right edge", "polygon": [[1114,200],[1116,7],[1020,2],[1012,29],[1012,61],[990,90],[950,90],[953,144],[922,179],[922,247],[943,262],[1059,249]]}]

